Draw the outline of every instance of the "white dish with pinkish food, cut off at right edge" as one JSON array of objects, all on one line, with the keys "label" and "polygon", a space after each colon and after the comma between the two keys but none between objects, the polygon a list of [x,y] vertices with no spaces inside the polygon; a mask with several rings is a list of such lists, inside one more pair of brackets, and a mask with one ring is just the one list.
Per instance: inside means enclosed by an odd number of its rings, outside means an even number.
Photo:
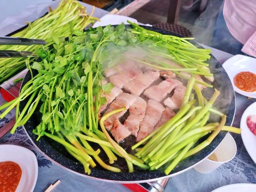
[{"label": "white dish with pinkish food, cut off at right edge", "polygon": [[256,163],[256,135],[254,135],[247,126],[246,118],[249,115],[256,114],[256,102],[252,103],[248,108],[244,111],[241,121],[240,121],[240,129],[241,137],[244,142],[244,146],[251,156],[252,160]]}]

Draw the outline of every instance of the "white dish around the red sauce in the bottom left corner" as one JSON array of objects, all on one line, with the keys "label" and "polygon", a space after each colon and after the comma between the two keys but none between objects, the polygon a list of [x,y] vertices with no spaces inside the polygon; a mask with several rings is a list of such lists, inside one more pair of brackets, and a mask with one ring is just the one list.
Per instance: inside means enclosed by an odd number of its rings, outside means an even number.
[{"label": "white dish around the red sauce in the bottom left corner", "polygon": [[37,157],[29,149],[17,145],[0,145],[0,162],[13,161],[22,170],[21,178],[15,192],[33,192],[37,182]]}]

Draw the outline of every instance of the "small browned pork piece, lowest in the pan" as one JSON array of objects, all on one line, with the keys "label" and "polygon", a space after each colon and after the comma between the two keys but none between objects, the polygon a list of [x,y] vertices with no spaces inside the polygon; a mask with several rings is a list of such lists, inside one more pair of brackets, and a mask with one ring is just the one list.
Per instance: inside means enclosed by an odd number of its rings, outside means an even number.
[{"label": "small browned pork piece, lowest in the pan", "polygon": [[122,125],[118,119],[113,122],[113,127],[110,130],[110,133],[112,134],[117,143],[131,135],[131,131],[129,131],[127,127]]}]

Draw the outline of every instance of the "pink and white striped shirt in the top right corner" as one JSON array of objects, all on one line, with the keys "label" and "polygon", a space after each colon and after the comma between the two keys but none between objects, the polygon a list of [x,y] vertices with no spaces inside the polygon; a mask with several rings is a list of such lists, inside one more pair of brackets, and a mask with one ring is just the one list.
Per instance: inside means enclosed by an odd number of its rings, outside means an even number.
[{"label": "pink and white striped shirt in the top right corner", "polygon": [[256,0],[225,0],[223,16],[241,51],[256,57]]}]

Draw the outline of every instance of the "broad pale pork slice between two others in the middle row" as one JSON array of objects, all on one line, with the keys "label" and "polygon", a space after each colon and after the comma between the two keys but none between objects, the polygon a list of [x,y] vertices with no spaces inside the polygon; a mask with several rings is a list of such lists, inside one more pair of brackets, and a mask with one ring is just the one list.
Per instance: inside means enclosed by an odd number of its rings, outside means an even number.
[{"label": "broad pale pork slice between two others in the middle row", "polygon": [[124,89],[131,94],[140,95],[150,84],[159,78],[158,71],[146,71],[132,81],[124,84]]}]

